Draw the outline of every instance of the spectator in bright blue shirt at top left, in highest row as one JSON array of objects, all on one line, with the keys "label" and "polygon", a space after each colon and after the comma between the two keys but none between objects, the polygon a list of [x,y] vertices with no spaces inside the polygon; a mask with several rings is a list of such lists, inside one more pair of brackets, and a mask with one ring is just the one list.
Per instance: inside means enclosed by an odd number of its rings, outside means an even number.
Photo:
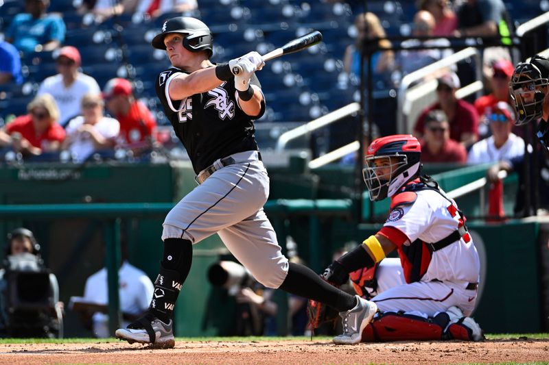
[{"label": "spectator in bright blue shirt at top left, in highest row", "polygon": [[25,0],[25,13],[14,16],[5,39],[23,53],[53,51],[65,40],[65,22],[47,14],[49,0]]}]

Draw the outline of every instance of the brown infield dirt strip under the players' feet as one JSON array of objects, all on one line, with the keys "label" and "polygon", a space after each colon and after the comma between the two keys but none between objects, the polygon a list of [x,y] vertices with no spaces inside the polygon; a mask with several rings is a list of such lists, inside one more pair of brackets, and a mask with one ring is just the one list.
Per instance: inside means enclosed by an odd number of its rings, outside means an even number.
[{"label": "brown infield dirt strip under the players' feet", "polygon": [[126,342],[0,344],[0,364],[463,364],[547,362],[549,339],[393,342],[336,346],[328,341],[176,342],[152,350]]}]

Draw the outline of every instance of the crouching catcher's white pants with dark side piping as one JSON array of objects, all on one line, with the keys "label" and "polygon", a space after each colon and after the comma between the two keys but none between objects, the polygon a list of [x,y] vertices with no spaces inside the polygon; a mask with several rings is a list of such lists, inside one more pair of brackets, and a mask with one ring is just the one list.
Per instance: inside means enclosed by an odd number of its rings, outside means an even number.
[{"label": "crouching catcher's white pants with dark side piping", "polygon": [[398,258],[386,258],[377,268],[377,295],[371,299],[381,312],[419,312],[435,316],[456,305],[465,316],[475,307],[477,290],[449,281],[416,281],[406,284]]}]

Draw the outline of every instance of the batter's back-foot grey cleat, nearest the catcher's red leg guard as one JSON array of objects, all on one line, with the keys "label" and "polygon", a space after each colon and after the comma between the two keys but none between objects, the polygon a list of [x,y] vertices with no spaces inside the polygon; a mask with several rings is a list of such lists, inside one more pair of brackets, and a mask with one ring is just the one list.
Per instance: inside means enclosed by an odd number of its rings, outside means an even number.
[{"label": "batter's back-foot grey cleat, nearest the catcher's red leg guard", "polygon": [[362,331],[371,322],[377,312],[377,305],[373,301],[366,301],[355,295],[357,305],[347,312],[340,312],[343,333],[334,337],[335,344],[358,344],[362,339]]}]

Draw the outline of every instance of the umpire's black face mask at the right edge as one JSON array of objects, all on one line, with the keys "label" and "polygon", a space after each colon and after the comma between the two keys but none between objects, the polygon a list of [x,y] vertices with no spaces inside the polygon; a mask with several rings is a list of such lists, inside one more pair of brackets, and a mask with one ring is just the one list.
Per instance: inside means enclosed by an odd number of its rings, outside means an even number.
[{"label": "umpire's black face mask at the right edge", "polygon": [[517,64],[511,77],[509,93],[511,99],[515,101],[515,110],[517,110],[515,125],[537,121],[543,114],[544,99],[548,92],[549,82],[546,77],[542,77],[540,64],[536,64],[540,59],[540,56],[534,56],[529,63]]}]

